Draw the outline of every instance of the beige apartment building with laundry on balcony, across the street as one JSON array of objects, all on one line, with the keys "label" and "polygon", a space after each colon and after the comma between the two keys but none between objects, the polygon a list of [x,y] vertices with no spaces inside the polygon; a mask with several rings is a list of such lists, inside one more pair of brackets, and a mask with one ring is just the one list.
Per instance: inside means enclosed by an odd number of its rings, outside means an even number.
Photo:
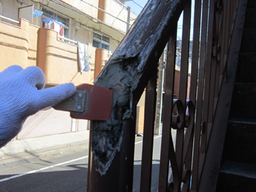
[{"label": "beige apartment building with laundry on balcony, across the street", "polygon": [[[0,71],[40,67],[46,87],[93,84],[136,19],[119,0],[0,0],[0,15]],[[16,139],[86,129],[88,121],[45,108]]]}]

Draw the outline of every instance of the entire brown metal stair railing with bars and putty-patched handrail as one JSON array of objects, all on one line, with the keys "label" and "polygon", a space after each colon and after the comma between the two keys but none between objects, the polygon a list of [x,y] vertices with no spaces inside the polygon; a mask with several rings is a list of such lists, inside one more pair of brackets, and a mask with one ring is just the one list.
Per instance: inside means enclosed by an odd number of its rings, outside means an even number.
[{"label": "entire brown metal stair railing with bars and putty-patched handrail", "polygon": [[[238,3],[244,1],[195,0],[192,6],[191,0],[158,0],[146,5],[95,81],[95,84],[115,91],[112,108],[112,122],[115,123],[92,122],[89,192],[131,191],[135,134],[132,118],[135,117],[134,109],[140,94],[147,84],[140,191],[150,191],[155,110],[153,76],[166,43],[168,51],[158,191],[208,191],[210,178],[217,176],[213,163],[220,163],[221,152],[217,154],[215,150],[216,146],[221,147],[217,142],[217,133],[224,132],[218,131],[218,126],[221,122],[223,125],[227,122],[228,107],[223,106],[223,101],[230,99],[232,86],[229,91],[223,89],[227,89],[228,81],[233,81],[230,79],[232,75],[229,75],[231,70],[234,75],[235,67],[232,67],[233,61],[230,58],[237,54],[234,41],[240,36],[233,34],[237,34],[234,33],[237,23],[242,22],[242,15],[237,11]],[[192,39],[191,9],[194,9]],[[178,99],[175,100],[177,21],[182,11],[182,60]],[[143,24],[145,21],[147,26]],[[229,94],[225,99],[223,97],[227,95],[223,96],[223,92],[224,95]],[[150,98],[148,95],[151,95]],[[123,96],[121,102],[119,98]],[[174,115],[176,107],[178,114]],[[222,117],[221,110],[225,112]],[[172,134],[173,129],[176,135]],[[126,141],[124,133],[128,133],[126,136],[129,139]],[[218,144],[215,146],[214,143]],[[112,148],[109,148],[109,144]],[[213,153],[209,154],[209,149]],[[124,156],[130,156],[130,163],[124,163]]]}]

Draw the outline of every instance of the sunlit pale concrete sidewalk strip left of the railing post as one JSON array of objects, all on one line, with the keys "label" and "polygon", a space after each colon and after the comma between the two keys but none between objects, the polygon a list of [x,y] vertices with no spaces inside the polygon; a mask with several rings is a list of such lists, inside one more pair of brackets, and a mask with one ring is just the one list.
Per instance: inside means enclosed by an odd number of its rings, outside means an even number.
[{"label": "sunlit pale concrete sidewalk strip left of the railing post", "polygon": [[0,149],[0,170],[40,159],[88,149],[89,131],[67,132],[9,142]]}]

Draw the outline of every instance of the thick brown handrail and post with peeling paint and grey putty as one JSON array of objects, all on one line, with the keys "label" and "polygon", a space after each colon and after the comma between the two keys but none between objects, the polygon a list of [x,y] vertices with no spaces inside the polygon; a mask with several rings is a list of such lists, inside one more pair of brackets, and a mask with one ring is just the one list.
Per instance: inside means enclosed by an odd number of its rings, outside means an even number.
[{"label": "thick brown handrail and post with peeling paint and grey putty", "polygon": [[[133,166],[124,163],[124,169],[123,161],[133,163],[134,111],[184,2],[186,0],[148,2],[96,78],[95,85],[112,89],[114,98],[112,118],[92,122],[88,191],[132,190],[132,182],[124,180],[133,180]],[[125,132],[130,135],[124,135]],[[113,179],[112,174],[118,172],[119,177]]]}]

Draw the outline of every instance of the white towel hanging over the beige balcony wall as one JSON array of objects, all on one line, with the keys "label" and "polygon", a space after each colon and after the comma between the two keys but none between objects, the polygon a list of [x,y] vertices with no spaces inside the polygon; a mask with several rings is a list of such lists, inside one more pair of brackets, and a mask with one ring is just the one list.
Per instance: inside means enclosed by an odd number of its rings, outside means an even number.
[{"label": "white towel hanging over the beige balcony wall", "polygon": [[81,72],[90,70],[89,46],[85,43],[78,42],[78,63]]}]

